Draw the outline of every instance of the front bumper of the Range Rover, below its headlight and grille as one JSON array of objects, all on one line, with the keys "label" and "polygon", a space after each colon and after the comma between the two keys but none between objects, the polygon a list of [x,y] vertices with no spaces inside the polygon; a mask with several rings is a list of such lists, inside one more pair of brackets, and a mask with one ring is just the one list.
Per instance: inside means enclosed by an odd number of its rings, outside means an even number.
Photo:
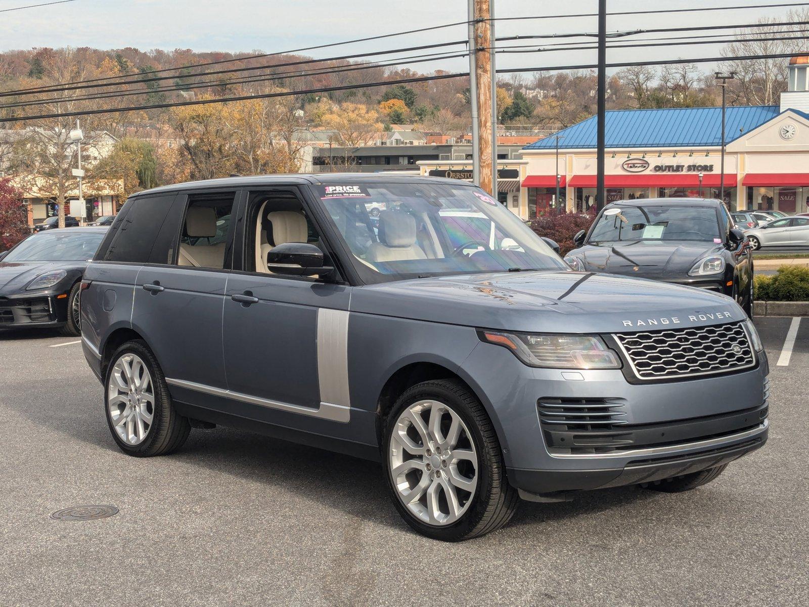
[{"label": "front bumper of the Range Rover, below its headlight and grille", "polygon": [[[671,478],[733,461],[767,439],[763,352],[743,371],[629,384],[621,370],[526,367],[505,348],[481,344],[464,371],[484,395],[510,484],[531,494]],[[587,407],[597,401],[596,415],[621,417],[605,432],[600,426],[569,432],[543,421],[544,403],[560,401],[587,401]]]}]

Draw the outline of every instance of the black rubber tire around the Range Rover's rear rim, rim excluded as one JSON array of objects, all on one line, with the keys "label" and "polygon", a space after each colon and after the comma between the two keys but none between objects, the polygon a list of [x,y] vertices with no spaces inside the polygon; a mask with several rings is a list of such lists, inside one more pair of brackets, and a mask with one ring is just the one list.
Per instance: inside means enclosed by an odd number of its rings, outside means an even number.
[{"label": "black rubber tire around the Range Rover's rear rim, rim excluded", "polygon": [[[112,375],[112,368],[115,366],[115,363],[121,359],[121,356],[128,353],[137,354],[146,365],[152,378],[155,392],[153,422],[150,425],[146,438],[143,439],[142,443],[137,445],[126,444],[116,434],[112,426],[112,418],[110,417],[108,407],[108,386],[110,376]],[[155,354],[152,354],[152,351],[146,346],[146,343],[141,340],[126,342],[115,351],[115,354],[112,354],[112,358],[110,359],[110,363],[104,375],[104,415],[107,418],[107,424],[112,438],[115,439],[121,451],[130,456],[151,457],[167,455],[182,447],[185,440],[188,439],[188,433],[191,431],[191,424],[188,422],[188,418],[178,414],[174,408],[172,397],[168,393],[166,378],[163,376],[163,370],[160,368],[157,359],[155,359]]]}]

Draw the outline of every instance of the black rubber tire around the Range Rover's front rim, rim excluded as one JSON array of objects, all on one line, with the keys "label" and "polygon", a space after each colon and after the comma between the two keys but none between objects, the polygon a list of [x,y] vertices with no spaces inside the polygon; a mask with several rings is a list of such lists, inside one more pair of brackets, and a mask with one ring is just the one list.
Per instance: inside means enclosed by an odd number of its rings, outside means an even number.
[{"label": "black rubber tire around the Range Rover's front rim, rim excluded", "polygon": [[[427,524],[404,506],[394,486],[390,457],[391,436],[400,413],[422,400],[435,400],[449,406],[463,420],[472,435],[478,454],[477,492],[468,510],[455,523],[446,526]],[[382,459],[385,477],[396,509],[407,524],[418,533],[442,541],[462,541],[491,533],[508,523],[514,515],[519,497],[509,485],[502,449],[489,415],[468,388],[455,380],[431,380],[408,388],[393,405],[383,427]]]}]

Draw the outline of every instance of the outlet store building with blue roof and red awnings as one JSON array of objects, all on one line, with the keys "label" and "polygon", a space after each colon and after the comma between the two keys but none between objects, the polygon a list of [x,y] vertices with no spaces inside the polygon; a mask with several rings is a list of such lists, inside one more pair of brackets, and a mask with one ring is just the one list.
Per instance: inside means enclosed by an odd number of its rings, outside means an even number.
[{"label": "outlet store building with blue roof and red awnings", "polygon": [[[790,60],[781,105],[612,110],[606,113],[607,202],[721,197],[731,210],[806,212],[809,203],[809,57]],[[560,204],[595,204],[596,117],[523,148],[532,219]]]}]

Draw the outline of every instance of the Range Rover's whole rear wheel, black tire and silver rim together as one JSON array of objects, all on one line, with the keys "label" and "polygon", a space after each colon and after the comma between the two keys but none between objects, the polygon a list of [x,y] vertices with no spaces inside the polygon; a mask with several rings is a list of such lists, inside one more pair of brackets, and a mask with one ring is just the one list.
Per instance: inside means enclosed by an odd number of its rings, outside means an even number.
[{"label": "Range Rover's whole rear wheel, black tire and silver rim together", "polygon": [[104,385],[107,422],[121,451],[148,457],[183,446],[191,426],[174,409],[163,371],[144,342],[126,342],[112,354]]}]

